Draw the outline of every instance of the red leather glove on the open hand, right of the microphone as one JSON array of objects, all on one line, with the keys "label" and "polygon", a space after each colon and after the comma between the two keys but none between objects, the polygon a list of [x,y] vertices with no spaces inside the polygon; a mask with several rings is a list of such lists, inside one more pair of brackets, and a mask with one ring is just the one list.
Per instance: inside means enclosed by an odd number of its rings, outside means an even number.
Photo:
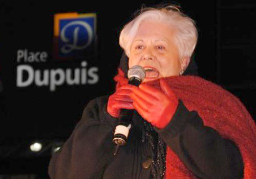
[{"label": "red leather glove on the open hand, right of the microphone", "polygon": [[133,88],[131,98],[134,108],[146,121],[163,129],[173,118],[178,98],[163,79],[160,80],[160,86],[163,92],[141,84],[139,88]]}]

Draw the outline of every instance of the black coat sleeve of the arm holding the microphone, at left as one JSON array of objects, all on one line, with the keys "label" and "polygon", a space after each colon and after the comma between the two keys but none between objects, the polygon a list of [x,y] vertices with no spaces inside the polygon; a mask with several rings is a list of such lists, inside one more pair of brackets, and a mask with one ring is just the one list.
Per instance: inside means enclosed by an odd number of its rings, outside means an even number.
[{"label": "black coat sleeve of the arm holding the microphone, at left", "polygon": [[106,100],[96,98],[84,109],[61,151],[50,160],[48,172],[52,179],[102,177],[112,157],[111,135],[116,121],[105,110]]}]

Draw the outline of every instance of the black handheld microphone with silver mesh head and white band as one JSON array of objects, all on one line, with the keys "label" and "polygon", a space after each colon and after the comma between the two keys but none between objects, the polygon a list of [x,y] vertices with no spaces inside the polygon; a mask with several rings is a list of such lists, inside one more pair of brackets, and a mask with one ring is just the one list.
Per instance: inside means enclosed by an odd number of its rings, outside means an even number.
[{"label": "black handheld microphone with silver mesh head and white band", "polygon": [[[144,80],[146,72],[142,66],[135,65],[128,70],[128,84],[139,86]],[[132,127],[132,117],[134,110],[121,109],[120,116],[117,121],[115,133],[112,142],[116,144],[114,150],[114,156],[117,153],[119,146],[123,146],[126,143],[129,131]]]}]

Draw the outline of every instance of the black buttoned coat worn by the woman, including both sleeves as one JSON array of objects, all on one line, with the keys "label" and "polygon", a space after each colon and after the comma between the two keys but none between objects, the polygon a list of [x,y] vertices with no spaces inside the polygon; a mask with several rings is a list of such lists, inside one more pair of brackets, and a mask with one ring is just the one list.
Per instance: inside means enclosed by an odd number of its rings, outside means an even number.
[{"label": "black buttoned coat worn by the woman, including both sleeves", "polygon": [[[106,96],[98,97],[84,109],[72,135],[51,159],[52,179],[149,179],[154,165],[151,146],[143,140],[143,119],[135,112],[127,144],[113,156],[116,118],[106,112]],[[189,112],[182,101],[173,119],[156,134],[198,178],[243,178],[243,161],[232,141],[204,126],[197,112]],[[147,161],[147,162],[145,162]]]}]

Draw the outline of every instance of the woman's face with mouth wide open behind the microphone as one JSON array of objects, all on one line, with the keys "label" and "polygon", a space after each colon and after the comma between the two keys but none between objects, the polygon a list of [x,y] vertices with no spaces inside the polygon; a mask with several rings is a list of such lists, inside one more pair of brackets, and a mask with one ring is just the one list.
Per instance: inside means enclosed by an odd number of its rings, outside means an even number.
[{"label": "woman's face with mouth wide open behind the microphone", "polygon": [[180,61],[174,35],[173,30],[163,23],[144,21],[140,24],[131,45],[129,68],[142,66],[146,71],[143,82],[179,75],[185,68]]}]

